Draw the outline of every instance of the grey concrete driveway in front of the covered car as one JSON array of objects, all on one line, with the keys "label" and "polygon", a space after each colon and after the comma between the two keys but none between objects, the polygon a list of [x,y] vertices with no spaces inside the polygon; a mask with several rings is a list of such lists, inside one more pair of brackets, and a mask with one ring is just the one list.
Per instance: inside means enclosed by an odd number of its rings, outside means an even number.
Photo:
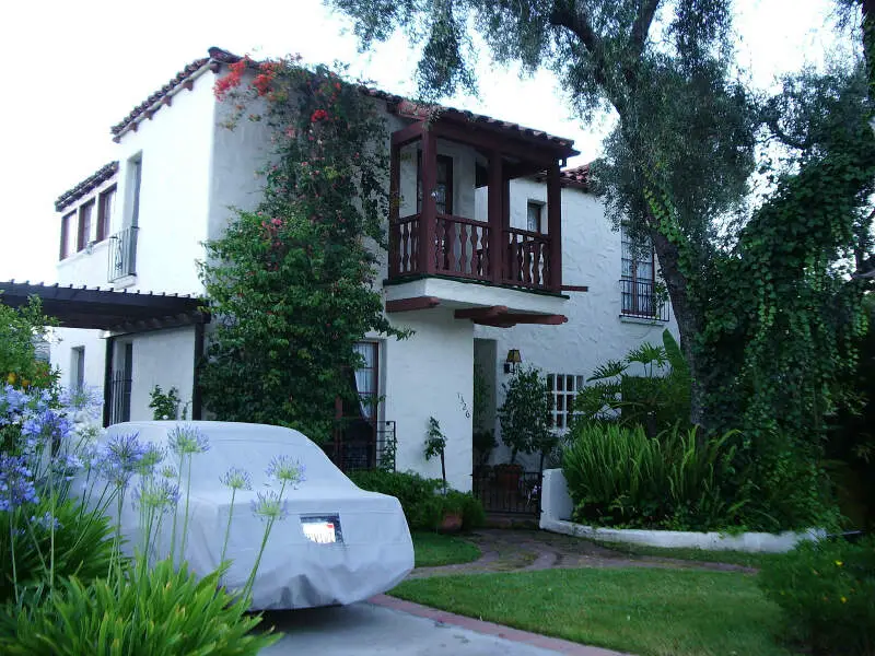
[{"label": "grey concrete driveway in front of the covered car", "polygon": [[259,656],[619,656],[378,596],[346,607],[266,613],[285,635]]}]

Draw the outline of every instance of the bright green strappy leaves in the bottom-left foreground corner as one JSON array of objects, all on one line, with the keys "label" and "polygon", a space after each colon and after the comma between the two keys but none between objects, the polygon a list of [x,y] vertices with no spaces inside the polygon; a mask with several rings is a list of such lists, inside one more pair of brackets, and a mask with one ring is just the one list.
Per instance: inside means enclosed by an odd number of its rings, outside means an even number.
[{"label": "bright green strappy leaves in the bottom-left foreground corner", "polygon": [[221,589],[221,570],[200,579],[170,560],[137,570],[118,589],[72,578],[42,605],[11,614],[0,630],[3,654],[255,656],[279,640],[252,633],[260,618]]}]

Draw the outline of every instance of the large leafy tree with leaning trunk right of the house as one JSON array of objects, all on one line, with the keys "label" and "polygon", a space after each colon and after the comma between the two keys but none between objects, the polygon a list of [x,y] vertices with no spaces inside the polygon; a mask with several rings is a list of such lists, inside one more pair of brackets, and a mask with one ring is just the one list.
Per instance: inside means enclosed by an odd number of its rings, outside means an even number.
[{"label": "large leafy tree with leaning trunk right of the house", "polygon": [[[760,364],[765,362],[763,344],[773,342],[774,331],[781,328],[780,321],[768,318],[783,301],[772,294],[794,297],[797,289],[793,285],[822,290],[824,279],[808,276],[813,270],[806,268],[809,255],[830,281],[832,265],[849,248],[856,247],[860,272],[873,261],[860,248],[867,229],[859,220],[868,188],[871,144],[863,138],[865,148],[838,159],[829,159],[825,150],[847,147],[867,113],[867,107],[854,106],[841,90],[837,93],[845,101],[843,106],[853,107],[851,122],[856,124],[838,126],[829,139],[820,134],[809,143],[788,143],[796,148],[795,168],[780,178],[772,202],[758,210],[752,226],[744,232],[745,222],[737,222],[731,238],[725,238],[727,216],[748,198],[763,121],[771,128],[767,138],[788,138],[790,132],[778,129],[786,118],[779,110],[800,107],[792,97],[786,106],[780,101],[762,105],[738,82],[731,0],[327,1],[354,20],[364,47],[398,28],[421,43],[419,81],[421,91],[432,97],[476,87],[474,30],[498,62],[518,62],[527,72],[552,69],[581,118],[604,108],[616,112],[617,128],[606,141],[605,157],[594,167],[594,178],[615,222],[622,222],[639,243],[652,243],[656,251],[692,374],[691,420],[697,424],[723,427],[715,418],[744,412],[745,403],[756,399],[756,385],[761,382],[745,379],[740,397],[732,397],[733,403],[724,411],[714,408],[727,383],[714,375],[718,350],[728,353],[734,348],[733,366],[722,368],[721,375],[742,375],[755,355]],[[862,8],[868,37],[872,14],[866,12],[872,0],[840,2],[847,11]],[[816,81],[809,82],[807,90],[817,87]],[[850,77],[838,84],[852,85]],[[820,91],[836,90],[821,84]],[[763,114],[763,108],[771,113]],[[790,122],[805,132],[805,119],[812,116],[801,112],[798,120]],[[843,127],[848,129],[842,132]],[[802,177],[796,179],[795,174]],[[842,184],[830,184],[836,180]],[[756,251],[757,266],[768,268],[763,262],[770,249],[780,250],[780,239],[789,245],[797,241],[791,214],[810,209],[812,199],[806,201],[806,196],[816,194],[818,185],[827,191],[825,202],[800,226],[825,241],[800,241],[795,251],[790,246],[798,257],[777,263],[775,278],[782,282],[763,295],[758,283],[763,277],[771,280],[771,273],[749,268],[743,260]],[[835,213],[830,207],[843,212],[841,225],[830,222]],[[861,226],[856,241],[845,230],[854,221]],[[763,234],[767,244],[761,241]],[[727,319],[730,311],[721,304],[727,295],[736,295],[727,282],[749,291],[739,296],[752,306],[734,308],[740,313],[738,325]],[[827,296],[818,295],[817,302],[826,302]],[[798,327],[809,318],[795,314],[789,320]],[[835,338],[835,331],[827,332],[810,347]],[[759,350],[751,353],[746,347],[754,336]],[[809,388],[821,386],[833,373],[813,377]]]}]

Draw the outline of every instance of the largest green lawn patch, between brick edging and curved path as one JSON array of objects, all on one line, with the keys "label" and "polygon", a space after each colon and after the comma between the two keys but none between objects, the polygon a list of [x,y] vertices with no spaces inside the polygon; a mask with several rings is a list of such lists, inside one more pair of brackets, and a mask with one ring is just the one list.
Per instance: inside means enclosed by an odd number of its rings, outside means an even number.
[{"label": "largest green lawn patch, between brick edging and curved path", "polygon": [[581,569],[435,576],[393,596],[640,656],[788,656],[781,620],[750,575]]}]

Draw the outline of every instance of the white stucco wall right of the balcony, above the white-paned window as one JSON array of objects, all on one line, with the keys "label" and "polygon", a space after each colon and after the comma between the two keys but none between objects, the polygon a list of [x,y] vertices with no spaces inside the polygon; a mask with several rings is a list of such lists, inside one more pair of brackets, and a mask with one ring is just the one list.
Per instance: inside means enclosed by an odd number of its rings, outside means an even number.
[{"label": "white stucco wall right of the balcony, above the white-paned window", "polygon": [[[546,200],[546,185],[529,179],[511,183],[512,225],[525,225],[526,201]],[[518,210],[518,211],[517,211]],[[516,219],[513,219],[516,216]],[[497,341],[495,376],[498,403],[504,400],[502,383],[508,382],[503,362],[510,349],[518,349],[524,365],[544,374],[572,374],[588,377],[593,370],[611,359],[650,341],[662,343],[667,327],[677,337],[674,316],[667,324],[628,323],[620,318],[620,233],[605,216],[604,206],[592,194],[575,188],[562,189],[562,284],[587,285],[587,292],[565,292],[569,300],[560,311],[568,317],[561,326],[490,328],[477,326],[475,337]],[[495,425],[495,435],[501,433]],[[493,462],[508,461],[509,449],[500,446]],[[528,468],[537,468],[537,456],[521,456]]]}]

